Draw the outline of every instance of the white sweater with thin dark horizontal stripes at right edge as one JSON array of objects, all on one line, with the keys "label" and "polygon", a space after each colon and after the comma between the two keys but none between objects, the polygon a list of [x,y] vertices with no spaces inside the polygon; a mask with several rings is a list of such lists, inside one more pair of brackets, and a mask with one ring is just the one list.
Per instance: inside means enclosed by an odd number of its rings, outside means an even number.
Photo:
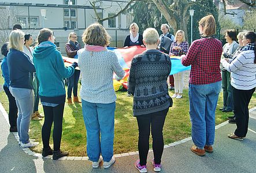
[{"label": "white sweater with thin dark horizontal stripes at right edge", "polygon": [[231,63],[221,59],[222,66],[231,72],[231,85],[236,89],[249,90],[256,86],[254,50],[242,51]]}]

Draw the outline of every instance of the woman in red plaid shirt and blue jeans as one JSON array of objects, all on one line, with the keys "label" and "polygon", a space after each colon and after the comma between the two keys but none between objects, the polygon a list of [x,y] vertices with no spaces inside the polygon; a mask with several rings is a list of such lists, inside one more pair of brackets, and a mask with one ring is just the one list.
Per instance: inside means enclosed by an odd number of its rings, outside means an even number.
[{"label": "woman in red plaid shirt and blue jeans", "polygon": [[192,140],[191,151],[199,156],[213,152],[215,135],[215,111],[221,90],[220,59],[222,44],[214,38],[216,22],[212,15],[199,21],[201,39],[195,40],[187,55],[181,56],[184,66],[191,65],[190,119]]}]

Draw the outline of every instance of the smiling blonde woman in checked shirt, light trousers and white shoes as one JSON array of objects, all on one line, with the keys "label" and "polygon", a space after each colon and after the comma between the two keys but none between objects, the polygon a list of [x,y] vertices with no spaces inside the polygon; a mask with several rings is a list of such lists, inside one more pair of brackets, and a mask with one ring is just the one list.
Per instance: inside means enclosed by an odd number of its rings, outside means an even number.
[{"label": "smiling blonde woman in checked shirt, light trousers and white shoes", "polygon": [[[185,41],[184,31],[178,30],[175,34],[175,41],[170,45],[169,55],[181,56],[187,54],[188,42]],[[180,99],[183,93],[183,76],[185,72],[173,74],[175,80],[175,94],[172,98]]]}]

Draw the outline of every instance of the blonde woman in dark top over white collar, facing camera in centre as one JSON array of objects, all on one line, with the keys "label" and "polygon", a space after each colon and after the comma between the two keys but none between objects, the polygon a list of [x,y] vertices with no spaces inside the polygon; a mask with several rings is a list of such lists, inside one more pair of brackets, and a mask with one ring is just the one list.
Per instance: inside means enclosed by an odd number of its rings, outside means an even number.
[{"label": "blonde woman in dark top over white collar, facing camera in centre", "polygon": [[129,27],[130,34],[126,37],[124,41],[124,48],[130,46],[141,46],[145,47],[143,44],[143,36],[139,34],[139,27],[136,23],[132,23]]}]

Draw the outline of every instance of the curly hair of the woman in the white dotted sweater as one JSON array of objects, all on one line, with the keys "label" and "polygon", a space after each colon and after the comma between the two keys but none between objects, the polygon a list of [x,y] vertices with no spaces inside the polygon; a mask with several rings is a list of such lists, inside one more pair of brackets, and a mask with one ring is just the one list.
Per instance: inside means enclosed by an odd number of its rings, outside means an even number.
[{"label": "curly hair of the woman in the white dotted sweater", "polygon": [[110,43],[110,36],[101,24],[91,24],[82,35],[85,44],[106,47]]}]

